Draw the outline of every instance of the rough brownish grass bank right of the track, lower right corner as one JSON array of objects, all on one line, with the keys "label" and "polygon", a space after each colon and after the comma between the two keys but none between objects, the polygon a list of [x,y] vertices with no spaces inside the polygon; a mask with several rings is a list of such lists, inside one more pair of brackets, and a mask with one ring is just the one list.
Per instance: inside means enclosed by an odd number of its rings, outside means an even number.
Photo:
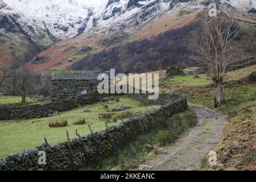
[{"label": "rough brownish grass bank right of the track, lower right corner", "polygon": [[201,170],[256,170],[256,101],[248,101],[228,111],[224,138],[214,148],[217,165],[201,162]]}]

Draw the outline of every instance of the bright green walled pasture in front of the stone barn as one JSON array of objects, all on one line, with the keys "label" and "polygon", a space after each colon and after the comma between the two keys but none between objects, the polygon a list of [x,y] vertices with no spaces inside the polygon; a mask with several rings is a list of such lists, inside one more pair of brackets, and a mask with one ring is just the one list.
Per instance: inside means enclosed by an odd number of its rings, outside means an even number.
[{"label": "bright green walled pasture in front of the stone barn", "polygon": [[[14,154],[28,148],[35,148],[40,146],[44,142],[44,138],[47,138],[49,144],[57,144],[65,142],[67,140],[65,131],[69,131],[70,137],[76,138],[75,130],[78,130],[79,134],[89,134],[88,124],[91,125],[93,131],[100,131],[105,129],[106,119],[99,118],[100,113],[113,114],[110,120],[109,127],[118,125],[121,120],[113,122],[116,115],[125,113],[127,111],[134,115],[146,112],[146,109],[151,110],[151,106],[143,106],[141,102],[133,100],[127,97],[119,97],[118,100],[106,102],[98,102],[96,104],[87,105],[77,109],[65,111],[59,113],[54,117],[38,118],[38,119],[26,119],[19,121],[0,121],[0,158],[4,158],[9,154]],[[103,109],[103,106],[108,104],[108,109]],[[119,111],[116,113],[109,112],[113,107],[117,105],[128,104],[131,109],[125,111]],[[158,108],[159,106],[153,106]],[[90,113],[85,113],[84,110],[90,110]],[[79,119],[85,118],[87,125],[73,125],[73,122]],[[48,125],[50,122],[55,121],[68,121],[67,127],[50,128]]]}]

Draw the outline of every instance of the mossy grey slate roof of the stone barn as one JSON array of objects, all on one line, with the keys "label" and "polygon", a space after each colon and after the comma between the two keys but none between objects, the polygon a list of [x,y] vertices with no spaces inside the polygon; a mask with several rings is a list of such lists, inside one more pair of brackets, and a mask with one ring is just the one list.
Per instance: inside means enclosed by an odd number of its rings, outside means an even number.
[{"label": "mossy grey slate roof of the stone barn", "polygon": [[110,79],[110,71],[52,70],[51,80],[97,80],[101,73],[106,73]]}]

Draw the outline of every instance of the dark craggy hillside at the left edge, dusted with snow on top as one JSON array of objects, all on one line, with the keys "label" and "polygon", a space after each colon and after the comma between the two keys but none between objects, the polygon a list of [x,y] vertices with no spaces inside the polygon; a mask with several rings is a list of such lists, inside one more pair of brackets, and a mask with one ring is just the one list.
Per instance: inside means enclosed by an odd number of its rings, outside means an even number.
[{"label": "dark craggy hillside at the left edge, dusted with snow on top", "polygon": [[0,0],[0,63],[30,61],[54,41],[46,29]]}]

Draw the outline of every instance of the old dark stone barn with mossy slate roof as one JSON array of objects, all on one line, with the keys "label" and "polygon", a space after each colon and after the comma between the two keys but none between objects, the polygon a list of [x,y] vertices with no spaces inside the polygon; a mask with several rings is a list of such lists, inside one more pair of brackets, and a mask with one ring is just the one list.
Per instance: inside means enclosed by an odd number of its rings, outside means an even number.
[{"label": "old dark stone barn with mossy slate roof", "polygon": [[97,78],[101,73],[106,73],[110,79],[110,72],[104,71],[51,71],[52,101],[65,100],[97,90],[98,83],[101,82]]}]

